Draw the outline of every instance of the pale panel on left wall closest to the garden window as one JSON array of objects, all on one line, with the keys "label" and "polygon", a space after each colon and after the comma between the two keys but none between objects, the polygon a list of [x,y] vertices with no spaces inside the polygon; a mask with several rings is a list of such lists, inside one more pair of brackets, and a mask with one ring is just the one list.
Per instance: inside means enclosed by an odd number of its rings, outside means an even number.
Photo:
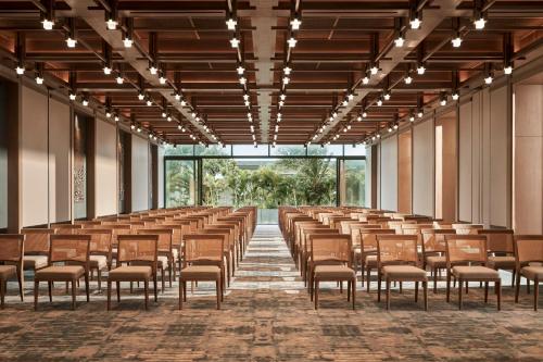
[{"label": "pale panel on left wall closest to the garden window", "polygon": [[132,211],[149,209],[149,141],[132,135],[131,147]]}]

